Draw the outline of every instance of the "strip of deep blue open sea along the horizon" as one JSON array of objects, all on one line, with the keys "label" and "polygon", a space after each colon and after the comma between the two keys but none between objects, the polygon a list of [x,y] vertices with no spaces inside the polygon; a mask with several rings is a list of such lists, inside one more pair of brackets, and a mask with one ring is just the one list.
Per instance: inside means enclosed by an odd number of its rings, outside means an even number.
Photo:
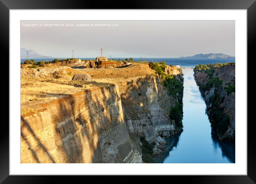
[{"label": "strip of deep blue open sea along the horizon", "polygon": [[[31,58],[29,58],[30,60]],[[32,58],[36,62],[38,61],[53,61],[54,58]],[[65,58],[58,58],[59,60]],[[95,60],[95,58],[78,58],[83,60]],[[108,58],[110,59],[110,58]],[[118,60],[119,58],[112,58]],[[120,58],[125,60],[125,58]],[[129,58],[128,58],[129,59]],[[26,58],[21,58],[20,62],[23,63]],[[152,61],[152,62],[162,62],[165,61],[167,65],[181,65],[182,67],[194,67],[197,64],[215,64],[215,63],[226,63],[226,62],[235,62],[235,58],[214,58],[214,59],[184,59],[184,58],[133,58],[134,61]]]}]

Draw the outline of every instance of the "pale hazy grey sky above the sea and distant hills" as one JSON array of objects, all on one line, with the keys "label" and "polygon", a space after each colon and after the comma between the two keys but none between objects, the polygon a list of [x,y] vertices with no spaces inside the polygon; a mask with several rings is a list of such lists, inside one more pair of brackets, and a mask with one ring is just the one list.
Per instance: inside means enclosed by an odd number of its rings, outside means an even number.
[{"label": "pale hazy grey sky above the sea and distant hills", "polygon": [[[74,57],[97,57],[100,56],[100,48],[103,48],[103,56],[111,55],[113,58],[181,57],[210,52],[235,56],[235,21],[233,20],[33,20],[20,23],[20,47],[32,49],[45,56],[72,57],[74,50]],[[54,24],[64,24],[64,26]],[[99,26],[100,24],[118,24],[118,26]]]}]

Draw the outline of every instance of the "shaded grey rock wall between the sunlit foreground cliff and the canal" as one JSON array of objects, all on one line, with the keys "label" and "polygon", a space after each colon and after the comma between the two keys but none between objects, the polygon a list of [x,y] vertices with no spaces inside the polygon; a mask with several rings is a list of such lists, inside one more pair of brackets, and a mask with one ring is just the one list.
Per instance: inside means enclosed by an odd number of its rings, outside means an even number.
[{"label": "shaded grey rock wall between the sunlit foreground cliff and the canal", "polygon": [[[176,67],[169,70],[168,75],[176,75],[178,79],[182,76]],[[131,137],[137,143],[140,143],[140,136],[144,136],[150,143],[155,142],[154,154],[161,153],[161,149],[166,144],[161,137],[172,136],[180,131],[174,121],[169,118],[169,108],[178,102],[177,98],[168,94],[158,75],[101,78],[94,81],[108,81],[119,86],[125,124]]]}]

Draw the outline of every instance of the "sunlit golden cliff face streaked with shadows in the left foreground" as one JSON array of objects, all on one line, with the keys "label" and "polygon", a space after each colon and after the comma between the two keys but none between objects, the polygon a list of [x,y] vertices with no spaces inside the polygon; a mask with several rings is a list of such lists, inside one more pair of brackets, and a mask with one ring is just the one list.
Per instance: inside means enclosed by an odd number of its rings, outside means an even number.
[{"label": "sunlit golden cliff face streaked with shadows in the left foreground", "polygon": [[42,104],[21,117],[21,163],[141,162],[116,85]]}]

